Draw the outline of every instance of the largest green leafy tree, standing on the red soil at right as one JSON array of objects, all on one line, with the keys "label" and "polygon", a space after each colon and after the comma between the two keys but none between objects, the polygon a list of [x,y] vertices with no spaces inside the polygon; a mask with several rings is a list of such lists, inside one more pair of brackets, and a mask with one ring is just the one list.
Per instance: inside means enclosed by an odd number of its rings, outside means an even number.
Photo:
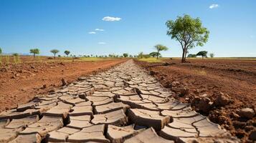
[{"label": "largest green leafy tree, standing on the red soil at right", "polygon": [[189,49],[194,46],[204,46],[209,38],[209,31],[202,26],[202,21],[199,18],[193,19],[189,15],[178,16],[175,21],[166,21],[166,26],[168,28],[167,35],[181,44],[181,62],[186,61]]}]

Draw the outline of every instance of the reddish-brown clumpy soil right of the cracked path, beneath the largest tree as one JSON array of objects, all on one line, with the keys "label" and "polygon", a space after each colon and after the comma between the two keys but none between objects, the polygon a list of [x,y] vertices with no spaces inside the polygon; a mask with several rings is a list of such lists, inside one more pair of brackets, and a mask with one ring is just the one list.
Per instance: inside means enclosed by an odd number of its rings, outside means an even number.
[{"label": "reddish-brown clumpy soil right of the cracked path, beneath the largest tree", "polygon": [[[191,103],[196,111],[221,124],[242,142],[252,142],[248,136],[256,129],[256,117],[248,119],[239,113],[246,107],[255,112],[256,61],[207,59],[180,64],[169,59],[166,64],[136,63],[175,92],[176,99]],[[216,104],[218,97],[227,103]]]}]

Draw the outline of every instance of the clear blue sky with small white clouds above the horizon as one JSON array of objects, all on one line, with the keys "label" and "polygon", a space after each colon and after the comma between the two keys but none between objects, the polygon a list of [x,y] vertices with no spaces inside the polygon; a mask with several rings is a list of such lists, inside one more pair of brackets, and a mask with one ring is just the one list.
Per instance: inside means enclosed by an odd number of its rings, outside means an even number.
[{"label": "clear blue sky with small white clouds above the horizon", "polygon": [[51,49],[100,55],[149,53],[163,44],[169,47],[163,56],[181,56],[165,23],[189,14],[210,31],[207,44],[189,53],[256,56],[255,7],[255,0],[0,0],[0,47],[5,53],[39,48],[41,55]]}]

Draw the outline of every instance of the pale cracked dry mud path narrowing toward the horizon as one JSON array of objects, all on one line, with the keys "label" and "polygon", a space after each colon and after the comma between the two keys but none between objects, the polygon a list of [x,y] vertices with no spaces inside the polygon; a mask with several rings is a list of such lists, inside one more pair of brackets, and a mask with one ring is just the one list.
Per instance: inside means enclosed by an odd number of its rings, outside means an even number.
[{"label": "pale cracked dry mud path narrowing toward the horizon", "polygon": [[240,142],[132,60],[0,113],[0,142]]}]

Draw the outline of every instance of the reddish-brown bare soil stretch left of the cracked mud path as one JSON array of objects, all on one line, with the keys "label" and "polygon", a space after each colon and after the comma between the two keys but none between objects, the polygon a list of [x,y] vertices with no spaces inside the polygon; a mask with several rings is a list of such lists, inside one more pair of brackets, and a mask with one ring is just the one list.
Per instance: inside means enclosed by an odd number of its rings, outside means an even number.
[{"label": "reddish-brown bare soil stretch left of the cracked mud path", "polygon": [[35,95],[45,94],[62,86],[62,79],[63,82],[74,82],[78,77],[109,69],[123,61],[125,60],[34,63],[27,61],[23,64],[1,65],[0,111],[27,103]]}]

